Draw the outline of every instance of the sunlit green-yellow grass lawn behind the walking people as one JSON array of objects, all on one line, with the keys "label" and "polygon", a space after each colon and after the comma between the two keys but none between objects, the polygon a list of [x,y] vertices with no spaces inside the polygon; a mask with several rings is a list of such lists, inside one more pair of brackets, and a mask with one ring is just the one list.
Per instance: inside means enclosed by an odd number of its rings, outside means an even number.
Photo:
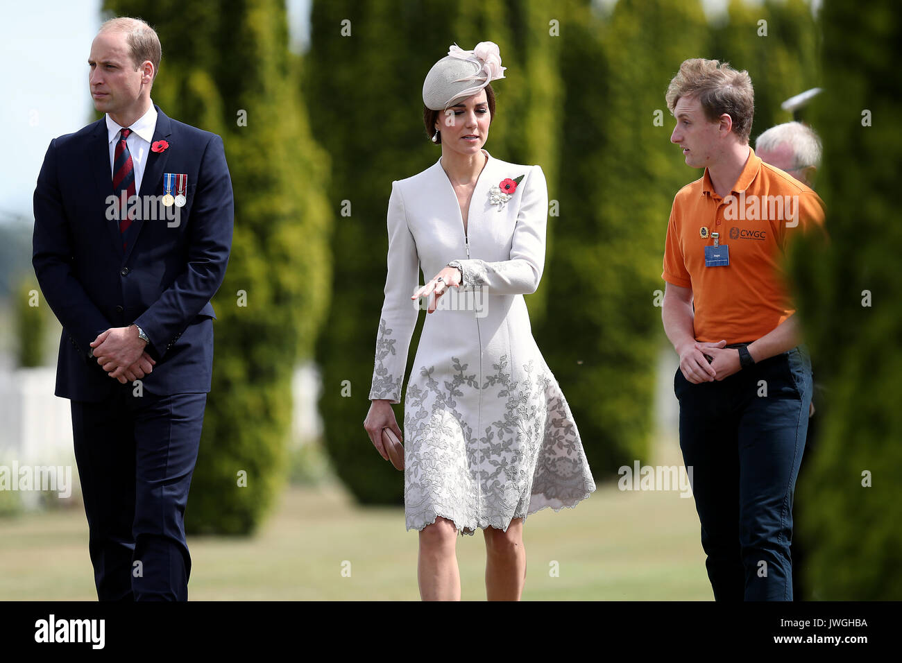
[{"label": "sunlit green-yellow grass lawn behind the walking people", "polygon": [[[0,600],[97,599],[80,507],[0,520],[0,531]],[[712,599],[695,502],[677,492],[603,484],[575,509],[534,513],[523,532],[524,600]],[[334,483],[292,486],[253,539],[189,538],[189,597],[419,600],[417,539],[402,508],[358,507]],[[462,598],[484,600],[481,530],[457,538],[457,559]]]}]

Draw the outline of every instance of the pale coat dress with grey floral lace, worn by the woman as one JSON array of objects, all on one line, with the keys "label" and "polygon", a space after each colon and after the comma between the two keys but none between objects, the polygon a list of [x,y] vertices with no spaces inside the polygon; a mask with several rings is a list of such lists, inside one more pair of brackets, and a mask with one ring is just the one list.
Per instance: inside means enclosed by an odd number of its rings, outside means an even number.
[{"label": "pale coat dress with grey floral lace, worn by the woman", "polygon": [[[484,151],[483,151],[484,152]],[[564,394],[538,350],[523,295],[545,263],[548,190],[539,166],[493,158],[477,180],[467,232],[440,161],[392,182],[388,275],[370,400],[400,403],[419,306],[410,295],[452,259],[463,266],[427,316],[404,400],[407,529],[437,516],[473,534],[574,507],[595,490]],[[490,189],[523,175],[502,206]]]}]

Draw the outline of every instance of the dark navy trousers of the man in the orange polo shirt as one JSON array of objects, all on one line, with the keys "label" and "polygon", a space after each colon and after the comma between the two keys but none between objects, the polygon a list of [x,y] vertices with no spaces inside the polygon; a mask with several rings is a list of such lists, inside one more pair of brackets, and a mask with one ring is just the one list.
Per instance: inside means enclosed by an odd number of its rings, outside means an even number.
[{"label": "dark navy trousers of the man in the orange polo shirt", "polygon": [[812,393],[805,347],[720,382],[693,384],[677,369],[674,391],[714,599],[791,601],[793,493]]}]

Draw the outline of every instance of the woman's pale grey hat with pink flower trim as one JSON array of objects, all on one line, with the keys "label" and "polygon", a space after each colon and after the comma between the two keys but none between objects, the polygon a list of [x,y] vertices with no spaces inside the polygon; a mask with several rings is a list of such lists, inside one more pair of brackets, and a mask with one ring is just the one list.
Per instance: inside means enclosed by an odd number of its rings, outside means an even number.
[{"label": "woman's pale grey hat with pink flower trim", "polygon": [[493,41],[480,41],[473,51],[454,44],[446,57],[429,69],[423,81],[423,103],[430,110],[446,110],[492,80],[504,78],[504,69],[498,44]]}]

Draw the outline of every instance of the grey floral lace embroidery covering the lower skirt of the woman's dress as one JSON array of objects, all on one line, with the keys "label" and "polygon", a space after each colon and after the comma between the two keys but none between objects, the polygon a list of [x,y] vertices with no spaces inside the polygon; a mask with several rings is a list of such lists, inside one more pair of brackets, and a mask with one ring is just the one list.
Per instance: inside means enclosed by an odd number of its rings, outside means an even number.
[{"label": "grey floral lace embroidery covering the lower skirt of the woman's dress", "polygon": [[[459,357],[452,358],[454,373],[444,389],[435,366],[421,367],[425,389],[410,384],[405,402],[408,529],[423,529],[444,513],[456,514],[443,517],[455,520],[459,531],[470,529],[467,534],[486,526],[505,529],[512,518],[525,520],[531,512],[572,508],[595,490],[557,381],[544,362],[539,369],[535,364],[529,359],[514,379],[502,355],[482,389]],[[505,400],[502,419],[478,440],[457,409],[465,390]]]}]

